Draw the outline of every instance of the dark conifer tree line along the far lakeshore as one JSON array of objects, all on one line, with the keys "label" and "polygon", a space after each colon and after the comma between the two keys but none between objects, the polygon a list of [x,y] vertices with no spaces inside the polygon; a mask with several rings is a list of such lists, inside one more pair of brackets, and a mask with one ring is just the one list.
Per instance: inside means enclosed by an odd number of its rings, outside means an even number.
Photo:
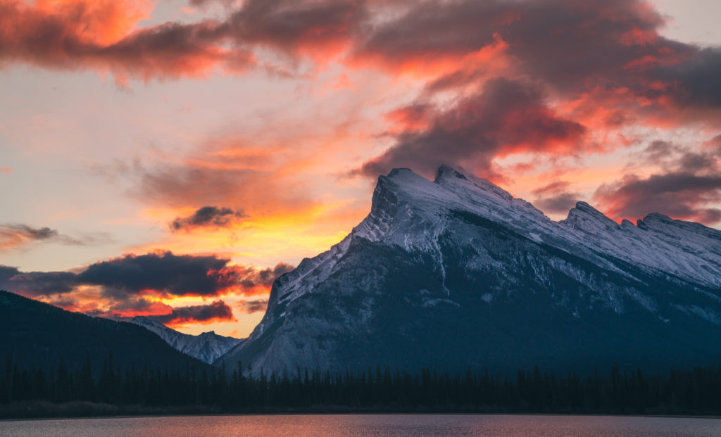
[{"label": "dark conifer tree line along the far lakeshore", "polygon": [[[383,411],[539,412],[610,414],[721,414],[721,367],[670,369],[645,375],[613,366],[590,376],[519,370],[417,372],[380,365],[339,373],[319,369],[254,372],[187,367],[167,370],[130,365],[107,356],[94,368],[89,354],[74,370],[60,357],[55,368],[19,368],[6,358],[0,404],[46,401],[149,407],[212,406],[221,412]],[[0,405],[1,410],[1,405]]]}]

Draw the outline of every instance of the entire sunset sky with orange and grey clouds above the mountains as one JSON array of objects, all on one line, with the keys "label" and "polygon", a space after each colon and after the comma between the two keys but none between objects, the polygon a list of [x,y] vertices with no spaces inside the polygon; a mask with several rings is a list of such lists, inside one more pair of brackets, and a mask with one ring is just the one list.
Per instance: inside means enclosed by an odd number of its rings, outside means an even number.
[{"label": "entire sunset sky with orange and grey clouds above the mountains", "polygon": [[379,175],[721,224],[717,0],[0,0],[0,288],[245,337]]}]

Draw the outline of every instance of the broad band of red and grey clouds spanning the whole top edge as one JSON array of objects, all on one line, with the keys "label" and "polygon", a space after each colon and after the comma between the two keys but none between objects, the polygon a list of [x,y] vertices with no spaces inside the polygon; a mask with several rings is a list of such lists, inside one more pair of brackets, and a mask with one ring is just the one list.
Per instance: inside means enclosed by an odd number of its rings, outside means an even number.
[{"label": "broad band of red and grey clouds spanning the whole top edge", "polygon": [[[660,36],[665,19],[646,1],[216,1],[221,19],[138,27],[150,1],[1,0],[0,62],[110,71],[124,84],[293,71],[307,58],[421,76],[431,93],[531,78],[583,103],[578,115],[616,121],[632,112],[670,122],[689,107],[684,118],[713,120],[707,110],[721,109],[721,49]],[[268,61],[277,55],[283,65]]]}]

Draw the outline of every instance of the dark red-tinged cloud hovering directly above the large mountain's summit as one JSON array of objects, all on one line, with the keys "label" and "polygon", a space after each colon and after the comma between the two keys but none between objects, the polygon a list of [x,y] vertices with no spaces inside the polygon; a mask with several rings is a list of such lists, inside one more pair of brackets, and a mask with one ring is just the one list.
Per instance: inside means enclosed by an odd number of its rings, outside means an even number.
[{"label": "dark red-tinged cloud hovering directly above the large mountain's summit", "polygon": [[585,134],[583,125],[545,106],[538,88],[508,79],[488,81],[476,94],[425,118],[427,128],[399,133],[394,146],[356,172],[374,177],[410,167],[430,174],[439,164],[488,169],[498,154],[575,150]]}]

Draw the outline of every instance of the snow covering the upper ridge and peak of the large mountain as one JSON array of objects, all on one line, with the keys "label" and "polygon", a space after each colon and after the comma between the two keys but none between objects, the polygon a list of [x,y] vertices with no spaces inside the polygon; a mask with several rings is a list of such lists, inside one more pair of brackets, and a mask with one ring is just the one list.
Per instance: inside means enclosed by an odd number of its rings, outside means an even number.
[{"label": "snow covering the upper ridge and peak of the large mountain", "polygon": [[721,231],[654,213],[638,226],[629,221],[621,226],[585,202],[579,202],[567,219],[555,222],[492,182],[443,166],[435,182],[410,169],[394,169],[379,177],[371,213],[342,242],[304,260],[289,273],[278,299],[296,299],[323,281],[355,238],[433,252],[452,210],[503,223],[536,242],[560,247],[612,270],[622,271],[609,258],[672,273],[702,286],[721,287]]}]

